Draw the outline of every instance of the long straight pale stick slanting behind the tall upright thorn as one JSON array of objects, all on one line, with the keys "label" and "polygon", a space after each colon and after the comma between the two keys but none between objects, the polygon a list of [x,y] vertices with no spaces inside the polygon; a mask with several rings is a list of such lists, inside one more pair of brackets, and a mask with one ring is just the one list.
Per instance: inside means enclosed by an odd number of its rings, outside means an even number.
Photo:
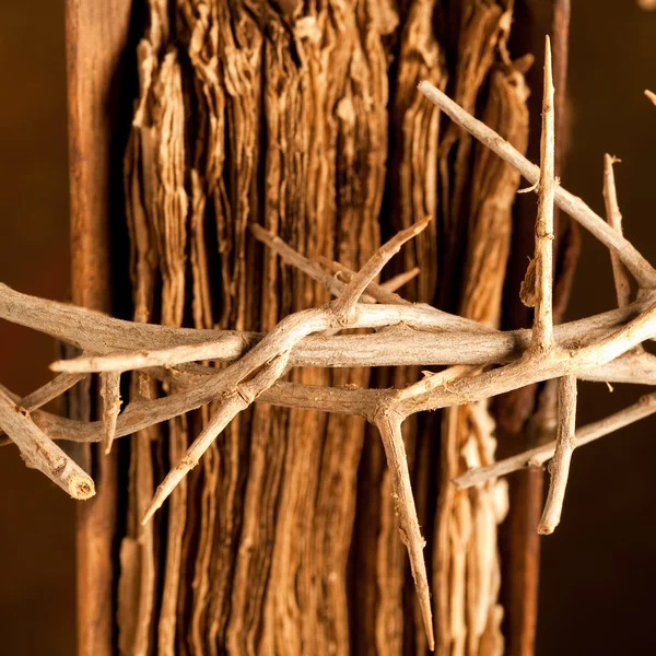
[{"label": "long straight pale stick slanting behind the tall upright thorn", "polygon": [[[466,129],[482,144],[496,153],[504,162],[516,168],[531,185],[539,181],[540,168],[529,162],[505,139],[480,120],[473,118],[457,103],[430,82],[422,81],[418,86],[432,103],[437,105],[455,124]],[[640,251],[619,235],[601,216],[595,213],[581,198],[558,186],[554,194],[555,204],[575,221],[588,230],[608,248],[617,250],[620,259],[635,277],[642,288],[656,288],[656,270]]]}]

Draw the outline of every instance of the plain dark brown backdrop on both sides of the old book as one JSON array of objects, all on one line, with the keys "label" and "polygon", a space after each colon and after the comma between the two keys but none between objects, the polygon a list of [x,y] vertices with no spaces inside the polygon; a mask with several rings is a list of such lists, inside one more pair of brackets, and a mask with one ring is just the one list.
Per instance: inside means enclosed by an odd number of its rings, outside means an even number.
[{"label": "plain dark brown backdrop on both sides of the old book", "polygon": [[[628,236],[656,261],[656,12],[573,3],[572,149],[563,184],[602,210],[601,157],[617,167]],[[536,35],[541,39],[541,35]],[[0,280],[68,297],[68,179],[62,3],[0,3]],[[570,317],[612,307],[608,255],[588,235]],[[48,379],[51,340],[0,324],[0,380],[26,394]],[[581,387],[579,422],[642,393]],[[656,420],[575,454],[563,523],[542,540],[538,654],[654,653]],[[14,448],[0,452],[2,653],[74,653],[74,504]]]}]

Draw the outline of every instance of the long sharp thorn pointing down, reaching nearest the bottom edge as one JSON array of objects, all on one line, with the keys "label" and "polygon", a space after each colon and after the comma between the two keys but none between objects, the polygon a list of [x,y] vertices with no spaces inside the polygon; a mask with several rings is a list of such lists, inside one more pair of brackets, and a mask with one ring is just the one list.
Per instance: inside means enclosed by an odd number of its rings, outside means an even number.
[{"label": "long sharp thorn pointing down, reaching nearest the bottom edge", "polygon": [[387,467],[391,473],[391,488],[394,490],[395,509],[399,522],[401,541],[408,549],[410,570],[414,579],[419,607],[423,619],[424,629],[429,642],[429,648],[435,649],[435,636],[433,631],[433,613],[431,611],[431,591],[426,575],[426,565],[423,558],[423,549],[426,544],[417,516],[414,496],[410,484],[410,471],[408,470],[408,456],[401,433],[402,417],[390,409],[383,409],[376,413],[374,423],[380,432]]}]

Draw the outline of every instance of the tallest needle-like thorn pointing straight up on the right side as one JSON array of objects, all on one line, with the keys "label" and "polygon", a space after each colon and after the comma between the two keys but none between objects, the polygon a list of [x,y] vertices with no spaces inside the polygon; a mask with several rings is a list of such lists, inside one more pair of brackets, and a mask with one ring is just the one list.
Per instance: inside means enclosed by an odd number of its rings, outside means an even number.
[{"label": "tallest needle-like thorn pointing straight up on the right side", "polygon": [[542,96],[542,136],[540,139],[540,181],[536,221],[536,311],[531,353],[546,354],[553,342],[553,195],[555,191],[553,120],[553,77],[551,43],[544,42],[544,82]]}]

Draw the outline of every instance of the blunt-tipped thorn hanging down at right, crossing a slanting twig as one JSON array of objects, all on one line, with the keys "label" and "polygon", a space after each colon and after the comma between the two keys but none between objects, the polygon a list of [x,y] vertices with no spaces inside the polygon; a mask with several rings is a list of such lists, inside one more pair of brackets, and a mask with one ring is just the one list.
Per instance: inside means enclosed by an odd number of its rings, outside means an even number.
[{"label": "blunt-tipped thorn hanging down at right, crossing a slanting twig", "polygon": [[570,477],[570,462],[576,448],[576,378],[563,376],[558,382],[558,433],[555,452],[549,466],[551,480],[538,532],[548,536],[560,524]]}]

